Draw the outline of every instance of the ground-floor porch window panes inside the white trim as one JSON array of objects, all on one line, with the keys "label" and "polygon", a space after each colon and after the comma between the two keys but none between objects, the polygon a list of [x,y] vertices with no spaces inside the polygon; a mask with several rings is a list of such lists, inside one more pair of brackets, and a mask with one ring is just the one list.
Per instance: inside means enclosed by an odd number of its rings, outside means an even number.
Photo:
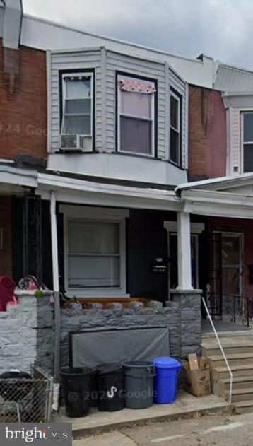
[{"label": "ground-floor porch window panes inside the white trim", "polygon": [[71,288],[119,288],[120,224],[68,221],[68,285]]}]

